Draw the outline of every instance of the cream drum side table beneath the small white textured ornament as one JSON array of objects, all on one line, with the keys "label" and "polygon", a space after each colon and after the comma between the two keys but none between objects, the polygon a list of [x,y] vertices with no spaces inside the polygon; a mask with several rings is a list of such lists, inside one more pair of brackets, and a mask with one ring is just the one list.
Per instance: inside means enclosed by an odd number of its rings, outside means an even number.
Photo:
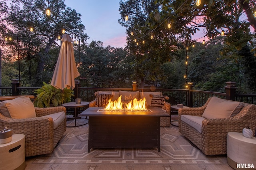
[{"label": "cream drum side table beneath the small white textured ornament", "polygon": [[241,170],[238,168],[240,164],[243,164],[244,167],[253,164],[254,168],[250,169],[256,170],[256,138],[247,138],[238,132],[228,132],[227,162],[236,170]]}]

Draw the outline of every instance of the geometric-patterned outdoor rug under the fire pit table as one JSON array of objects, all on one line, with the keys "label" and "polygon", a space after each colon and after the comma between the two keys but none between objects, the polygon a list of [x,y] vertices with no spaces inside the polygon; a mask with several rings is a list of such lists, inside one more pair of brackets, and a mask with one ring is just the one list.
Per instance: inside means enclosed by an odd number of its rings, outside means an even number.
[{"label": "geometric-patterned outdoor rug under the fire pit table", "polygon": [[[36,156],[30,164],[51,164],[57,167],[67,164],[84,164],[83,169],[161,169],[172,170],[187,165],[189,169],[208,169],[206,165],[223,169],[224,165],[216,156],[206,156],[178,132],[178,127],[161,128],[161,152],[148,149],[91,149],[88,153],[88,124],[67,128],[60,144],[51,154]],[[150,168],[148,167],[149,165]],[[220,166],[220,167],[219,167]],[[221,168],[222,167],[222,168]],[[29,169],[29,166],[27,167]],[[27,169],[26,168],[26,169]],[[213,167],[212,167],[213,168]],[[211,169],[212,169],[211,168]],[[47,168],[48,169],[48,168]],[[49,168],[50,169],[50,168]],[[51,168],[58,169],[58,168]],[[78,168],[79,169],[79,168]]]}]

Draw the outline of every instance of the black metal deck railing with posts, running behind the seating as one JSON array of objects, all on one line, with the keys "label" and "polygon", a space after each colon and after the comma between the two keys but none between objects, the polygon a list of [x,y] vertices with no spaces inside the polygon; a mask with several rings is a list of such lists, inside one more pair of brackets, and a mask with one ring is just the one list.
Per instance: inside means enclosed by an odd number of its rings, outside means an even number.
[{"label": "black metal deck railing with posts, running behind the seating", "polygon": [[[40,87],[19,87],[17,82],[12,83],[12,87],[0,87],[0,96],[14,96],[14,95],[34,95],[35,89]],[[184,106],[190,107],[200,107],[205,104],[208,98],[212,96],[217,96],[219,98],[236,100],[240,102],[245,102],[249,104],[256,104],[256,94],[235,94],[236,88],[234,86],[226,86],[226,93],[220,92],[208,92],[202,90],[192,90],[188,89],[150,89],[150,88],[136,88],[136,91],[140,92],[162,92],[163,96],[168,96],[170,99],[166,102],[169,102],[171,105],[184,104]],[[74,98],[82,98],[82,101],[92,101],[95,99],[94,93],[97,91],[132,91],[132,88],[86,88],[79,87],[79,84],[76,84],[74,89]],[[74,100],[72,98],[72,100]]]}]

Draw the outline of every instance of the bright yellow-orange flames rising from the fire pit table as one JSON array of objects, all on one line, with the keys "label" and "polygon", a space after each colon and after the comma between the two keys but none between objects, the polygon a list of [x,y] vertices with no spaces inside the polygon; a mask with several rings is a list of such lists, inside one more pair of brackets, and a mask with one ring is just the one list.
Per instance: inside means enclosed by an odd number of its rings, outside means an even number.
[{"label": "bright yellow-orange flames rising from the fire pit table", "polygon": [[134,99],[131,100],[128,103],[121,102],[120,96],[117,100],[112,101],[111,99],[108,100],[108,103],[106,104],[105,110],[126,110],[126,111],[136,111],[136,110],[146,110],[146,99]]}]

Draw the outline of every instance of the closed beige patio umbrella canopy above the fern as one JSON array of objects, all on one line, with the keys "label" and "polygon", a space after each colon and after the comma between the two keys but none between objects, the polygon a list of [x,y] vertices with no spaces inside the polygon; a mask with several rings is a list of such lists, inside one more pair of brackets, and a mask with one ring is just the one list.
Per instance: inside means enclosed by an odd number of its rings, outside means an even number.
[{"label": "closed beige patio umbrella canopy above the fern", "polygon": [[55,88],[75,88],[75,78],[80,76],[76,68],[72,39],[68,34],[62,36],[60,54],[52,76],[51,85]]}]

